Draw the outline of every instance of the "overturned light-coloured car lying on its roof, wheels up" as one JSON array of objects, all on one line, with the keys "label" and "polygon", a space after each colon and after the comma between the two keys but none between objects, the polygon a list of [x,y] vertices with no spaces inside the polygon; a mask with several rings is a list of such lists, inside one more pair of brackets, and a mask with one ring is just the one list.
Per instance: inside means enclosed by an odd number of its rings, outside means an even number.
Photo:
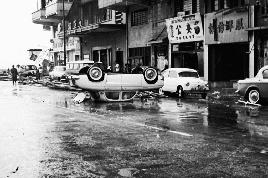
[{"label": "overturned light-coloured car lying on its roof, wheels up", "polygon": [[92,100],[130,101],[140,90],[162,88],[163,78],[153,67],[140,69],[142,73],[105,73],[98,66],[84,67],[77,75],[68,77],[69,82],[75,80],[81,92],[74,98],[75,102],[83,101],[89,93]]}]

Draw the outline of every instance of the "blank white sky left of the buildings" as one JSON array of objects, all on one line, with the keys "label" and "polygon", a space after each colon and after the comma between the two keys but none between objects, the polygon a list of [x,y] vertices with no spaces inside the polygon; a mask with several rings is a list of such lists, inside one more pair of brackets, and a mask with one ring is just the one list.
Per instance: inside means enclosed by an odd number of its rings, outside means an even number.
[{"label": "blank white sky left of the buildings", "polygon": [[[0,6],[0,69],[12,65],[36,65],[29,60],[29,49],[51,48],[52,31],[32,23],[32,12],[38,9],[37,0],[3,1]],[[40,46],[39,46],[40,45]]]}]

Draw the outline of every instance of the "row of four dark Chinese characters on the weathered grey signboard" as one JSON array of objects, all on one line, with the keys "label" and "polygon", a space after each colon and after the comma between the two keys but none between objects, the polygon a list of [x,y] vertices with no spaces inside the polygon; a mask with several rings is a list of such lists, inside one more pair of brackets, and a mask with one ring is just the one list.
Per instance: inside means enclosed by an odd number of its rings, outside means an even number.
[{"label": "row of four dark Chinese characters on the weathered grey signboard", "polygon": [[[224,31],[224,25],[226,26],[225,30],[230,31],[230,32],[232,31],[232,28],[234,28],[233,27],[233,20],[226,21],[225,24],[223,22],[219,22],[218,27],[217,27],[219,33],[223,33],[223,31]],[[209,33],[210,34],[214,33],[213,25],[211,23],[209,23],[209,27],[208,28],[209,28]],[[244,28],[243,27],[243,18],[237,19],[235,30],[241,30],[243,28]]]}]

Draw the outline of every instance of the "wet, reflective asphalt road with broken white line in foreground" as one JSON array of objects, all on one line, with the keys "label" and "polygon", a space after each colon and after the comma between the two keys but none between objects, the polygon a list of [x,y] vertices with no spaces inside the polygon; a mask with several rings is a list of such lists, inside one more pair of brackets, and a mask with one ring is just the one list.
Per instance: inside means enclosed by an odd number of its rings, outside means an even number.
[{"label": "wet, reflective asphalt road with broken white line in foreground", "polygon": [[[217,168],[216,177],[267,175],[268,156],[260,153],[268,151],[267,106],[244,105],[236,102],[239,97],[225,96],[209,100],[200,100],[200,96],[136,98],[124,103],[86,100],[76,104],[71,100],[73,91],[12,85],[10,81],[0,81],[0,86],[0,177],[198,176],[193,171],[178,171],[174,160],[171,164],[165,159],[170,161],[184,152],[196,163],[193,153],[184,149],[199,148],[201,155],[211,152],[211,156],[221,157],[221,164],[229,164],[226,155],[221,155],[226,152],[237,154],[239,161],[241,155],[248,154],[247,159],[258,163],[255,167],[256,163],[246,168],[240,165],[239,171],[225,165]],[[153,161],[163,162],[154,174],[145,171],[156,169]],[[199,176],[213,177],[219,163],[210,168],[203,164],[199,165],[202,171],[196,169]]]}]

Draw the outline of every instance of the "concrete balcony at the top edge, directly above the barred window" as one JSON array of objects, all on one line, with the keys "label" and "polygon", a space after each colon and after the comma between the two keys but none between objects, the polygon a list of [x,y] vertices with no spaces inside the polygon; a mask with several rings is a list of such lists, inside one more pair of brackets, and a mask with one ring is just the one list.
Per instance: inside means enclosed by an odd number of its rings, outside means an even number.
[{"label": "concrete balcony at the top edge, directly above the barred window", "polygon": [[107,8],[126,13],[126,4],[128,6],[138,5],[142,7],[151,7],[151,0],[99,0],[99,9]]}]

